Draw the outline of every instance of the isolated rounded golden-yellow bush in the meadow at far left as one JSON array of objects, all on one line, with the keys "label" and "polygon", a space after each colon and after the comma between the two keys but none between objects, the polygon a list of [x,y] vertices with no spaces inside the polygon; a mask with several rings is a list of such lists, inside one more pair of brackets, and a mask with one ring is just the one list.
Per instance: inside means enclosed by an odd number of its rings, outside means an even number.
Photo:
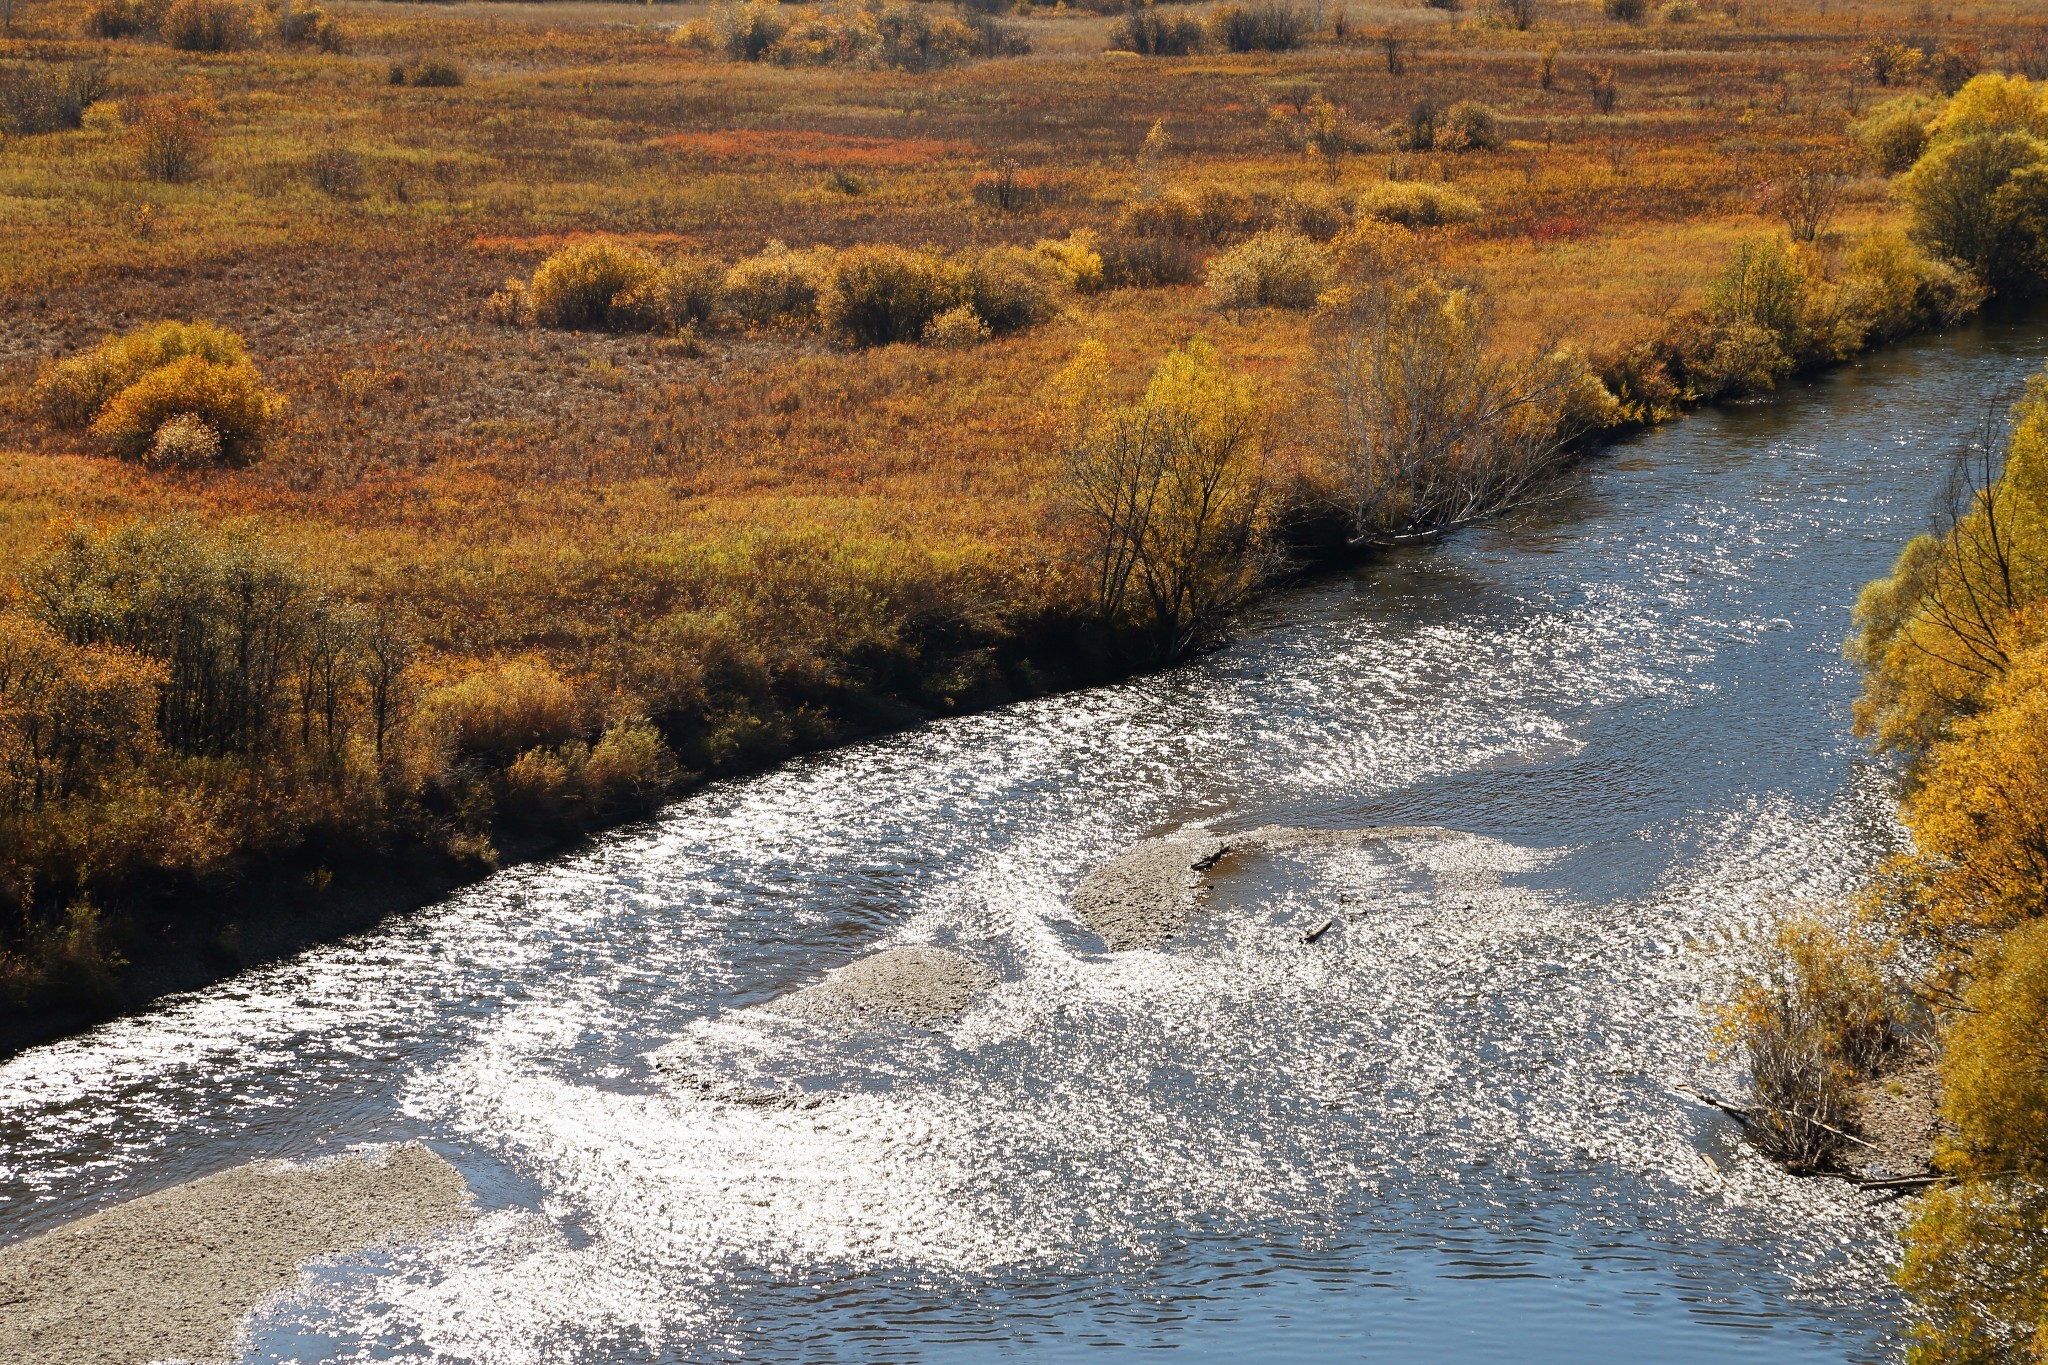
[{"label": "isolated rounded golden-yellow bush in the meadow at far left", "polygon": [[246,463],[285,407],[242,338],[205,321],[106,338],[47,366],[35,395],[53,424],[152,467]]}]

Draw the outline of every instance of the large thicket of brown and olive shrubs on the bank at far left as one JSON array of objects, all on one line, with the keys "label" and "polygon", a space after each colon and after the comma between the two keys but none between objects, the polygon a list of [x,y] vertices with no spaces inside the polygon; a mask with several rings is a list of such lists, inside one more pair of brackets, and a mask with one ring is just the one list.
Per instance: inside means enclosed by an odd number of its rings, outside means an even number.
[{"label": "large thicket of brown and olive shrubs on the bank at far left", "polygon": [[502,823],[580,827],[674,778],[653,726],[549,665],[449,677],[246,534],[74,530],[0,610],[0,997],[102,990],[94,905],[307,839],[487,857]]}]

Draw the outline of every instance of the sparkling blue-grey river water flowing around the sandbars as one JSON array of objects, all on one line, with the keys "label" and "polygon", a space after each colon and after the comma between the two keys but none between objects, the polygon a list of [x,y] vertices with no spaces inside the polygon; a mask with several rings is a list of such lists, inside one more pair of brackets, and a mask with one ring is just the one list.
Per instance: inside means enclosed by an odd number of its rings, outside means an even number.
[{"label": "sparkling blue-grey river water flowing around the sandbars", "polygon": [[[2044,350],[1694,415],[1174,673],[725,782],[16,1056],[0,1240],[424,1140],[479,1218],[313,1271],[248,1361],[1892,1359],[1896,1212],[1673,1087],[1741,1085],[1731,945],[1896,847],[1849,604]],[[1464,837],[1235,857],[1106,954],[1073,886],[1194,825]],[[997,984],[938,1029],[750,1009],[893,943]]]}]

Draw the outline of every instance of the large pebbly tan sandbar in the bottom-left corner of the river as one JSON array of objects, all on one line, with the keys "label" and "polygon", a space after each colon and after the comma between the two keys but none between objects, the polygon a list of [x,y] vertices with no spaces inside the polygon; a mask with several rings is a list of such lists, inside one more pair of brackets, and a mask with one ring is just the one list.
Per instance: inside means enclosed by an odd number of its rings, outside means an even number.
[{"label": "large pebbly tan sandbar in the bottom-left corner of the river", "polygon": [[0,1361],[221,1361],[242,1318],[317,1257],[469,1216],[463,1177],[403,1146],[311,1169],[256,1162],[0,1248]]}]

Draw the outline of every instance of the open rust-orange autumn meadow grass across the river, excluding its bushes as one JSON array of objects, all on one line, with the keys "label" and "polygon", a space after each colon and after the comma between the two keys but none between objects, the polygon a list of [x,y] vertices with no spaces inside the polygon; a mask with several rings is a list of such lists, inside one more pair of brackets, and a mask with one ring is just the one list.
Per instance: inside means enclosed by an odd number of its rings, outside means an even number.
[{"label": "open rust-orange autumn meadow grass across the river, excluding its bushes", "polygon": [[[1782,235],[1798,174],[1841,176],[1821,260],[1898,219],[1845,133],[1898,92],[1872,84],[1874,41],[2048,63],[2048,18],[2019,4],[1743,0],[1620,23],[1546,2],[1528,31],[1352,6],[1294,51],[1176,59],[1106,51],[1116,16],[1036,8],[1004,16],[1030,55],[928,72],[694,51],[672,41],[709,14],[688,4],[330,14],[340,51],[190,53],[82,37],[76,0],[16,4],[0,63],[104,63],[104,108],[193,100],[205,153],[182,180],[150,178],[115,117],[0,143],[0,565],[25,571],[78,526],[252,534],[324,591],[403,618],[424,704],[516,663],[567,690],[541,747],[651,718],[680,767],[637,784],[639,800],[1139,663],[1077,626],[1085,575],[1055,497],[1049,377],[1096,340],[1112,383],[1135,389],[1169,348],[1208,338],[1262,385],[1272,469],[1313,481],[1311,323],[1223,311],[1200,284],[1075,295],[1047,325],[961,350],[496,321],[489,295],[551,250],[608,235],[727,260],[770,239],[975,252],[1114,235],[1159,188],[1147,180],[1446,182],[1481,215],[1421,235],[1442,270],[1485,280],[1499,342],[1569,338],[1602,370],[1681,327],[1741,241]],[[391,82],[422,59],[461,84]],[[1325,162],[1274,133],[1276,104],[1313,96],[1356,149]],[[1497,111],[1499,147],[1384,149],[1378,131],[1419,102],[1460,100]],[[1167,149],[1145,153],[1155,125]],[[1004,164],[1028,188],[1008,211],[977,192]],[[156,319],[246,338],[289,401],[260,460],[145,469],[43,420],[33,385],[49,362]],[[0,596],[20,593],[0,573]],[[20,927],[0,929],[14,999],[47,1005],[37,980],[104,990],[92,964],[147,954],[135,925],[164,907],[233,915],[279,876],[326,890],[330,866],[395,855],[422,831],[473,868],[530,847],[506,814],[512,757],[489,772],[420,759],[432,772],[399,784],[410,814],[385,802],[375,819],[305,798],[305,772],[178,769],[215,792],[211,833],[152,833],[147,857],[14,860]],[[631,804],[557,808],[526,831]],[[166,839],[188,847],[162,853]]]}]

